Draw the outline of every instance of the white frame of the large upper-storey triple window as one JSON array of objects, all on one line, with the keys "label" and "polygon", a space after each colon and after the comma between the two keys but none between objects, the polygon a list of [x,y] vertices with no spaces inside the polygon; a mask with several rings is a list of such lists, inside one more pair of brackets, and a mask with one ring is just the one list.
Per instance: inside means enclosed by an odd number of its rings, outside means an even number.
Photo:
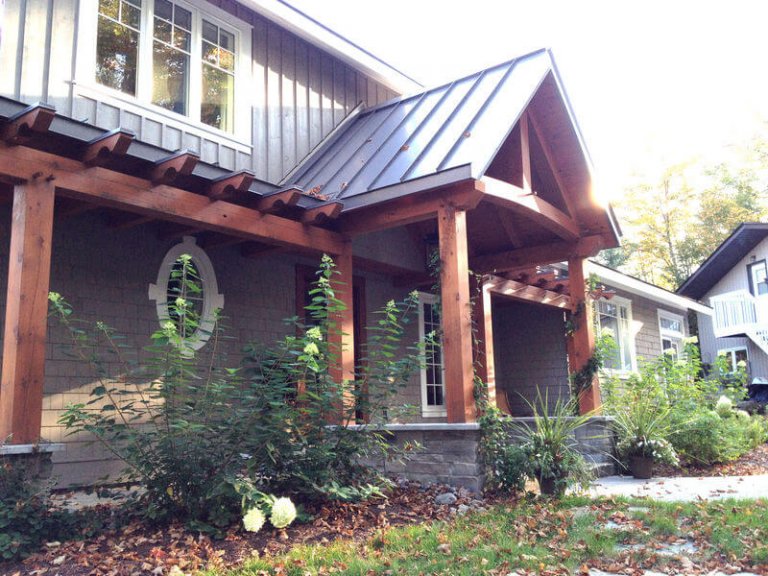
[{"label": "white frame of the large upper-storey triple window", "polygon": [[[202,0],[171,0],[192,12],[192,57],[190,58],[190,115],[179,114],[152,104],[153,0],[141,0],[141,36],[136,95],[126,94],[96,81],[96,40],[98,0],[82,0],[77,37],[77,67],[74,95],[92,98],[129,112],[161,122],[173,128],[207,138],[225,139],[246,151],[251,144],[250,98],[253,74],[251,62],[251,26],[224,10]],[[235,109],[234,132],[227,132],[200,120],[202,97],[202,22],[209,20],[235,35]]]}]

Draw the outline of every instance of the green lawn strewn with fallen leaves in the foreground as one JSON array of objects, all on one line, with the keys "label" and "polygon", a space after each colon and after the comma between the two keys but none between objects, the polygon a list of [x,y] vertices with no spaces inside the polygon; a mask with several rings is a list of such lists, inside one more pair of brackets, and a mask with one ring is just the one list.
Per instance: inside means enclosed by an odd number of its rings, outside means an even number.
[{"label": "green lawn strewn with fallen leaves in the foreground", "polygon": [[[768,501],[524,501],[451,522],[390,528],[364,542],[298,546],[211,575],[578,573],[641,565],[768,571]],[[694,548],[695,547],[695,548]],[[760,565],[763,566],[760,566]]]}]

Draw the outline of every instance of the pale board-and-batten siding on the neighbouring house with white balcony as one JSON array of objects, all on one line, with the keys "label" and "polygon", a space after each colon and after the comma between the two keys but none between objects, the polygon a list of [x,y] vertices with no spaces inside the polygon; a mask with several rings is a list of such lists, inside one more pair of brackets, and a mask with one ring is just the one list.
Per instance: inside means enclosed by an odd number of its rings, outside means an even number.
[{"label": "pale board-and-batten siding on the neighbouring house with white balcony", "polygon": [[[728,292],[739,290],[749,291],[749,275],[747,266],[753,261],[768,259],[768,238],[750,250],[733,266],[701,299],[712,305],[710,298]],[[713,318],[703,314],[699,319],[699,341],[701,343],[701,359],[704,362],[714,362],[718,350],[745,347],[749,356],[749,374],[752,378],[768,378],[768,355],[765,354],[749,338],[715,338]]]}]

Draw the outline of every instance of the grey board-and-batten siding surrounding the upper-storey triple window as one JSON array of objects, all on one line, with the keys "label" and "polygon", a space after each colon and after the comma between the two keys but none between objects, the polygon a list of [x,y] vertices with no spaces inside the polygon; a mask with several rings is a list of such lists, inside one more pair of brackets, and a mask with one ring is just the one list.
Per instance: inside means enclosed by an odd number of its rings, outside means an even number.
[{"label": "grey board-and-batten siding surrounding the upper-storey triple window", "polygon": [[83,21],[79,11],[89,4],[82,0],[5,3],[0,95],[29,104],[47,102],[76,120],[105,129],[127,128],[143,142],[169,150],[188,148],[205,162],[230,170],[249,169],[268,182],[279,182],[358,103],[373,106],[397,96],[253,11],[231,0],[211,1],[207,4],[252,27],[251,129],[246,130],[248,138],[236,140],[186,123],[182,116],[148,110],[137,100],[109,97],[79,84],[77,41],[86,36],[78,31]]}]

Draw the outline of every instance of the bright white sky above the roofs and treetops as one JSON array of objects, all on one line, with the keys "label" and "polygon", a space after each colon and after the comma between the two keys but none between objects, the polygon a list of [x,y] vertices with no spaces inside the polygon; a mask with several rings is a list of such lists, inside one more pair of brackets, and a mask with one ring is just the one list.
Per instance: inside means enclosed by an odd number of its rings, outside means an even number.
[{"label": "bright white sky above the roofs and treetops", "polygon": [[288,1],[427,86],[551,48],[614,200],[768,134],[768,1]]}]

